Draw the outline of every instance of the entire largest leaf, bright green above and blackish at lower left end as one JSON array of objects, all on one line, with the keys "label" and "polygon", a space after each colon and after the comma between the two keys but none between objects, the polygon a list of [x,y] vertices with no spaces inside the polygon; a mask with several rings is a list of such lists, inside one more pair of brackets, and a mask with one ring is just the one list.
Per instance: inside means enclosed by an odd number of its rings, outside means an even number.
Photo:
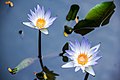
[{"label": "entire largest leaf, bright green above and blackish at lower left end", "polygon": [[74,32],[85,35],[100,25],[106,25],[114,13],[115,4],[113,1],[103,2],[93,7],[84,20],[80,20],[78,24],[74,26]]}]

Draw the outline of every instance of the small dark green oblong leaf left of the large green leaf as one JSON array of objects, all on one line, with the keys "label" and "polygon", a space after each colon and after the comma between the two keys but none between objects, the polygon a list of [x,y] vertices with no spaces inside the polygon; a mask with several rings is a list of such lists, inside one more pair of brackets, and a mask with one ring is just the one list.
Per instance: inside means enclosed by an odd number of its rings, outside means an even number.
[{"label": "small dark green oblong leaf left of the large green leaf", "polygon": [[70,10],[69,10],[69,12],[68,12],[68,14],[66,16],[66,20],[68,20],[68,21],[75,20],[78,11],[79,11],[79,5],[73,4],[70,7]]}]

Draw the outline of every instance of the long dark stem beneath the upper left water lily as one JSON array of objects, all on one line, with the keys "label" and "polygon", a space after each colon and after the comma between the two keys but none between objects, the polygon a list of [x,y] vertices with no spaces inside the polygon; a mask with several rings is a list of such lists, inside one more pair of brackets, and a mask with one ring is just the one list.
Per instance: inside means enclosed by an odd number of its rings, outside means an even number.
[{"label": "long dark stem beneath the upper left water lily", "polygon": [[38,35],[38,58],[40,61],[41,68],[43,70],[43,62],[42,62],[42,54],[41,54],[41,31],[39,30],[39,35]]}]

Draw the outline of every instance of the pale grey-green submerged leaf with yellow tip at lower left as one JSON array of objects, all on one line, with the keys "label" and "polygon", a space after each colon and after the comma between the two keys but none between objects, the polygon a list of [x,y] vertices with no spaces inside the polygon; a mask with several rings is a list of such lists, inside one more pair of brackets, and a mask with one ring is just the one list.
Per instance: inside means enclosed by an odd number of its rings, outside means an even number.
[{"label": "pale grey-green submerged leaf with yellow tip at lower left", "polygon": [[18,64],[15,68],[13,68],[13,69],[8,68],[8,71],[11,74],[16,74],[20,70],[30,66],[35,60],[37,60],[37,58],[26,58],[20,64]]}]

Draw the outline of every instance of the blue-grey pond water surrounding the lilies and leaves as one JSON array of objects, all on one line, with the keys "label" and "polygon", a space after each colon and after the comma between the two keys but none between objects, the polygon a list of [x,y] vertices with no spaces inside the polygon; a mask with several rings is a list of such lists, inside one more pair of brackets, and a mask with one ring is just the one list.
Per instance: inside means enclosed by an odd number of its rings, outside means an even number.
[{"label": "blue-grey pond water surrounding the lilies and leaves", "polygon": [[[81,70],[74,72],[74,68],[61,68],[64,63],[58,55],[62,46],[69,40],[82,39],[81,35],[75,33],[64,37],[65,17],[73,3],[80,5],[78,15],[79,19],[83,19],[90,8],[109,0],[12,0],[13,8],[5,5],[4,1],[0,0],[0,80],[33,80],[33,72],[41,71],[38,60],[16,75],[11,75],[7,71],[8,67],[14,68],[23,59],[38,55],[38,30],[22,24],[23,21],[28,21],[29,10],[33,10],[37,4],[44,6],[45,10],[50,9],[52,16],[58,16],[49,27],[49,35],[42,34],[44,64],[60,75],[56,80],[83,80],[84,74]],[[120,1],[115,0],[115,4],[116,11],[110,23],[85,35],[93,46],[102,43],[99,55],[103,57],[99,64],[93,67],[96,77],[90,76],[89,80],[120,80]],[[24,35],[19,34],[19,30],[22,30]]]}]

